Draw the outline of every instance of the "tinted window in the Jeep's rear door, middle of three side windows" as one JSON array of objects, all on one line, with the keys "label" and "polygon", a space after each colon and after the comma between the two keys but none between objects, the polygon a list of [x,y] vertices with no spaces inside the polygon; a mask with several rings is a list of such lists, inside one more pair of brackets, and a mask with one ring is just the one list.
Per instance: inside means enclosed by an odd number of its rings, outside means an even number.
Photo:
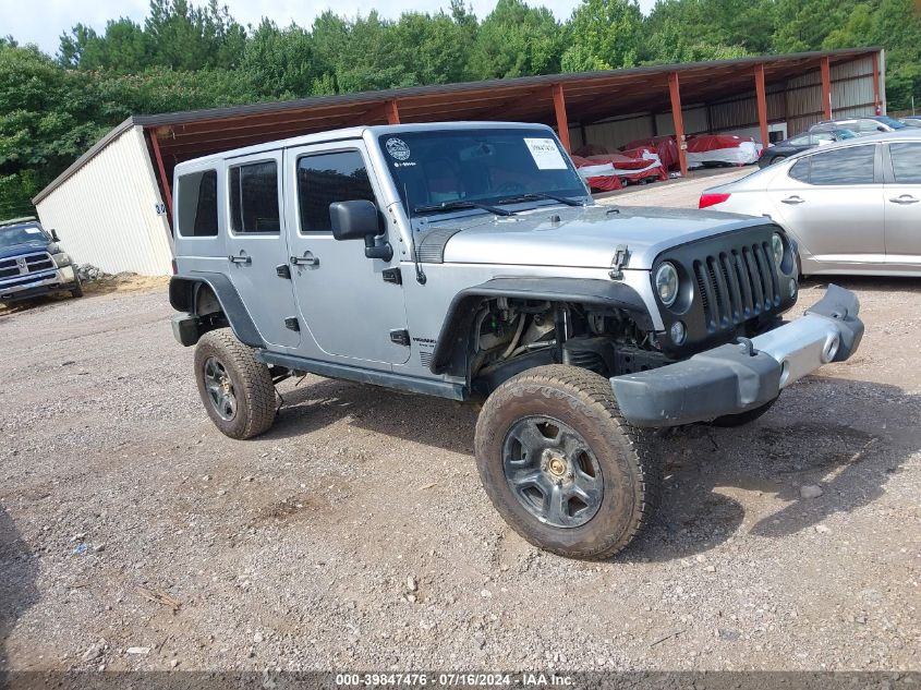
[{"label": "tinted window in the Jeep's rear door, middle of three side windows", "polygon": [[230,169],[230,227],[239,233],[281,231],[274,160]]}]

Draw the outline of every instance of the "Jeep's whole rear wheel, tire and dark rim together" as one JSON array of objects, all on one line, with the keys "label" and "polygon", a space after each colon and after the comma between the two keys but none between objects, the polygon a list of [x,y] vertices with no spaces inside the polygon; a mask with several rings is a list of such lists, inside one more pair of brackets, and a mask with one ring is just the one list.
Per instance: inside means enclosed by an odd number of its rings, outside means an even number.
[{"label": "Jeep's whole rear wheel, tire and dark rim together", "polygon": [[208,416],[231,438],[252,438],[275,422],[268,366],[229,328],[211,330],[195,347],[195,380]]}]

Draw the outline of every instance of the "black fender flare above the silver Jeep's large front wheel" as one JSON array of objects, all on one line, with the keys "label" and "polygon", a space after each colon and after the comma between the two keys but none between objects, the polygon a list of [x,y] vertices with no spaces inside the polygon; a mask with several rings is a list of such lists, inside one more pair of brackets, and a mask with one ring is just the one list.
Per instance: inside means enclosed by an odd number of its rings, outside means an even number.
[{"label": "black fender flare above the silver Jeep's large front wheel", "polygon": [[619,308],[630,314],[640,328],[654,329],[643,298],[622,282],[596,278],[493,278],[461,290],[451,300],[432,353],[433,374],[466,374],[460,370],[466,366],[466,336],[476,308],[484,299],[500,296]]}]

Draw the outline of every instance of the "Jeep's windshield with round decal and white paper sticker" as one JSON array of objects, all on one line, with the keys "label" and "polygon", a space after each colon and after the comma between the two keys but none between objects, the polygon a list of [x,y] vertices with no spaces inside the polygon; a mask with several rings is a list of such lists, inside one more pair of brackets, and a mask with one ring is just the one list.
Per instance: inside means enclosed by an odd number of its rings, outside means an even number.
[{"label": "Jeep's windshield with round decal and white paper sticker", "polygon": [[[589,192],[557,140],[541,129],[400,132],[379,137],[403,205],[412,213]],[[529,199],[531,201],[531,199]]]}]

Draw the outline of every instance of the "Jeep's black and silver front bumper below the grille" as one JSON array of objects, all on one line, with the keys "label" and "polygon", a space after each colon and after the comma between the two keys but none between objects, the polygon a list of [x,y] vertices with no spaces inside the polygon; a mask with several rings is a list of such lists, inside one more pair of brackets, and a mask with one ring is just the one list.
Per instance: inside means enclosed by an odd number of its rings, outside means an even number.
[{"label": "Jeep's black and silver front bumper below the grille", "polygon": [[635,426],[678,426],[759,408],[829,362],[847,360],[863,337],[860,302],[829,285],[800,318],[751,340],[677,364],[610,379],[623,417]]}]

